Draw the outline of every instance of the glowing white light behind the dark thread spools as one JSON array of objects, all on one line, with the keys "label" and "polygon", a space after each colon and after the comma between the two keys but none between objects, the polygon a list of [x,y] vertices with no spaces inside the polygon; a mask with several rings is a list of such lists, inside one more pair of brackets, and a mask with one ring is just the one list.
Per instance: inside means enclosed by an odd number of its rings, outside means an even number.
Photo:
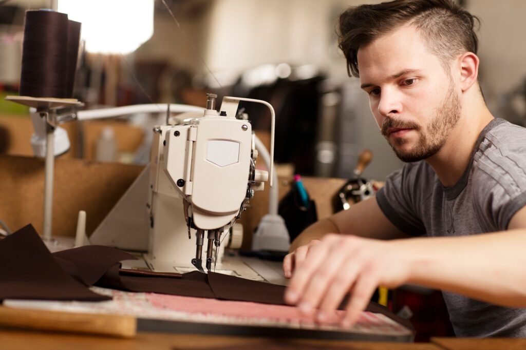
[{"label": "glowing white light behind the dark thread spools", "polygon": [[154,0],[59,0],[58,12],[82,23],[88,52],[129,54],[154,33]]}]

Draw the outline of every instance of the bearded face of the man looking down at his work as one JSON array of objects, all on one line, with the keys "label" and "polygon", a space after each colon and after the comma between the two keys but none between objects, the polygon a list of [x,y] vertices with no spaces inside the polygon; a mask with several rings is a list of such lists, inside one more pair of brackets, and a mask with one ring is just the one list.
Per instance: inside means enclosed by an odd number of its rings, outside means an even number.
[{"label": "bearded face of the man looking down at his work", "polygon": [[461,106],[451,74],[417,30],[406,25],[361,47],[358,67],[372,114],[397,157],[412,162],[437,153]]}]

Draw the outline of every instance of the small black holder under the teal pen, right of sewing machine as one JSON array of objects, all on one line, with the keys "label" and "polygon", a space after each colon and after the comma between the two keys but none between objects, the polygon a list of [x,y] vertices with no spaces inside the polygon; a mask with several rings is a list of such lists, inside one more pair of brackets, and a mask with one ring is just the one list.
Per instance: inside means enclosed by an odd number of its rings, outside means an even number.
[{"label": "small black holder under the teal pen, right of sewing machine", "polygon": [[318,221],[316,203],[309,199],[309,205],[304,205],[294,183],[292,183],[290,191],[279,202],[278,213],[285,220],[290,242],[294,241],[301,231],[310,224]]}]

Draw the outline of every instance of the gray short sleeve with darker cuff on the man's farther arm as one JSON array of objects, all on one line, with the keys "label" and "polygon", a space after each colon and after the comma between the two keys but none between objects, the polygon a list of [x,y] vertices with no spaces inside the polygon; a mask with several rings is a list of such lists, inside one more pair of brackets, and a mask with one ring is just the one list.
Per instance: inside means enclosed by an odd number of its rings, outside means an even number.
[{"label": "gray short sleeve with darker cuff on the man's farther arm", "polygon": [[386,184],[376,194],[376,199],[383,214],[398,229],[412,236],[426,234],[419,213],[418,166],[405,164],[401,170],[390,174]]}]

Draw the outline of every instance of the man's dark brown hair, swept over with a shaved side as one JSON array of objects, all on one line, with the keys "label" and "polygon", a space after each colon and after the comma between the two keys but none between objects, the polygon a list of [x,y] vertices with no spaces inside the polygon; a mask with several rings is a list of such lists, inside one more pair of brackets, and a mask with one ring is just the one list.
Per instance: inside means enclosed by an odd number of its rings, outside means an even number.
[{"label": "man's dark brown hair, swept over with a shaved side", "polygon": [[414,25],[442,65],[464,52],[477,54],[474,26],[480,21],[450,0],[395,0],[350,7],[339,17],[338,47],[347,72],[359,77],[358,49],[405,24]]}]

